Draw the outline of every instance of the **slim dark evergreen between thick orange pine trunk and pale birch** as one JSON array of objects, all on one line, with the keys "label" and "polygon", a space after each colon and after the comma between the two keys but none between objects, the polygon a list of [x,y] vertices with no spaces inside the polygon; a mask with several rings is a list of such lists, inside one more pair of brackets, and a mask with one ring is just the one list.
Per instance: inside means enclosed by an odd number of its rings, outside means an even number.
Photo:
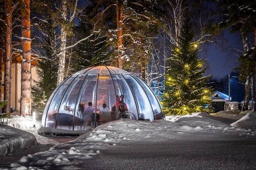
[{"label": "slim dark evergreen between thick orange pine trunk and pale birch", "polygon": [[56,31],[53,20],[50,17],[45,27],[48,38],[45,39],[47,44],[52,46],[44,46],[45,57],[40,58],[39,66],[36,70],[38,81],[33,80],[34,86],[31,87],[31,95],[33,99],[32,109],[42,112],[50,95],[56,88],[58,60],[56,57]]}]

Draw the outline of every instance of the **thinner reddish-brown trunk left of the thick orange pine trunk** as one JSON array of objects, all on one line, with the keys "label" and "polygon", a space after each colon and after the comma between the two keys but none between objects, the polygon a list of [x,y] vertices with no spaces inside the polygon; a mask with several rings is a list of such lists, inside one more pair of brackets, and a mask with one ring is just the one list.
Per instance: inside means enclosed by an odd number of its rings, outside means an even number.
[{"label": "thinner reddish-brown trunk left of the thick orange pine trunk", "polygon": [[5,64],[4,64],[4,100],[8,100],[4,106],[4,113],[10,113],[11,107],[11,0],[5,3]]}]

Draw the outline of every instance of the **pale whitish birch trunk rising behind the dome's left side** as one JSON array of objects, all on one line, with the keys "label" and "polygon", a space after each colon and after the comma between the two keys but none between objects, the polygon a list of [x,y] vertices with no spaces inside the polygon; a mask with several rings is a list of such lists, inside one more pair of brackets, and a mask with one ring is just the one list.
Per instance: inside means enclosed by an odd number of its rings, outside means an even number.
[{"label": "pale whitish birch trunk rising behind the dome's left side", "polygon": [[[62,1],[62,13],[61,18],[63,21],[67,20],[67,1]],[[57,85],[61,84],[65,75],[65,61],[66,61],[66,47],[67,47],[67,29],[65,23],[61,24],[61,47],[58,62],[58,77]]]}]

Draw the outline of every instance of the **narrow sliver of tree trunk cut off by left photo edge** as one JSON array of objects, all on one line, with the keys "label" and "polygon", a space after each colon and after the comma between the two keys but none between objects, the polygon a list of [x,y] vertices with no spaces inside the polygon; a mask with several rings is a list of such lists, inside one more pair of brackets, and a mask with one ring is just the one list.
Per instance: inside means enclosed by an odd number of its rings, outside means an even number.
[{"label": "narrow sliver of tree trunk cut off by left photo edge", "polygon": [[[0,100],[2,100],[2,71],[3,71],[3,60],[4,60],[4,22],[1,22],[0,29]],[[0,113],[2,113],[2,109],[0,108]]]}]

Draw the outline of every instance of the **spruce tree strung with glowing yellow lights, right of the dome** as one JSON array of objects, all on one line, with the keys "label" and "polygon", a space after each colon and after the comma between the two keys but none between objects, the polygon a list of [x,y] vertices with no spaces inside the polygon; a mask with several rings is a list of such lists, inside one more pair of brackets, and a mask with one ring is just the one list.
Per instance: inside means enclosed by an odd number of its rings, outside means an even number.
[{"label": "spruce tree strung with glowing yellow lights, right of the dome", "polygon": [[166,115],[186,115],[194,112],[212,112],[213,89],[205,86],[211,75],[204,77],[207,66],[198,58],[198,46],[193,43],[194,33],[186,21],[177,46],[169,59],[163,109]]}]

